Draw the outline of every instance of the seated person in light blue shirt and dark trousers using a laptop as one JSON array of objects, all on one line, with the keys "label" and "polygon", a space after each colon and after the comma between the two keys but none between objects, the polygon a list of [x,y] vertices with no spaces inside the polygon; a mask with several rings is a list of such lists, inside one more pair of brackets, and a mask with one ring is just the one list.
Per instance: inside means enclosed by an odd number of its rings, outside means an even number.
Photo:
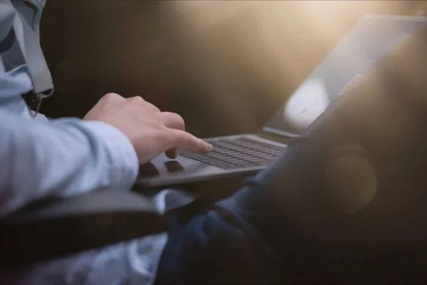
[{"label": "seated person in light blue shirt and dark trousers using a laptop", "polygon": [[[34,2],[38,15],[43,2]],[[1,30],[15,13],[8,3],[0,4]],[[426,237],[416,219],[425,201],[418,190],[426,182],[426,31],[380,63],[389,73],[371,71],[267,170],[209,212],[186,222],[171,217],[167,234],[3,273],[1,284],[384,282],[403,271],[410,274],[402,280],[416,280],[421,272],[407,259],[384,257],[411,257],[406,253],[419,249],[412,242]],[[14,45],[0,62],[2,216],[43,197],[129,190],[139,165],[162,152],[173,158],[178,150],[212,150],[184,130],[179,115],[139,96],[109,93],[83,120],[33,118],[22,95],[34,81],[25,62],[16,64]],[[398,212],[404,218],[390,220]],[[416,257],[425,256],[419,249]],[[401,270],[391,271],[396,264]]]}]

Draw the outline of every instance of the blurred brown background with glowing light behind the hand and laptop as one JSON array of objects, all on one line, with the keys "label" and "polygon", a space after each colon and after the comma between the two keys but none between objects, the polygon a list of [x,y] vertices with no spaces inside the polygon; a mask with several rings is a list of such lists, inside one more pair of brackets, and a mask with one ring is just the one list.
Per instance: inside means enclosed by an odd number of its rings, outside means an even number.
[{"label": "blurred brown background with glowing light behind the hand and laptop", "polygon": [[253,133],[363,14],[426,15],[427,1],[48,1],[41,41],[56,92],[83,115],[142,95],[201,137]]}]

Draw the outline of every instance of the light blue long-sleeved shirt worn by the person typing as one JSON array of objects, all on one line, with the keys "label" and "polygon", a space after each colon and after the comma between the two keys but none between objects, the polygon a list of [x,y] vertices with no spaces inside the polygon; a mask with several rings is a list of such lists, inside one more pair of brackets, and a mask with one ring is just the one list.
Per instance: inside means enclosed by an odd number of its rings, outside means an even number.
[{"label": "light blue long-sleeved shirt worn by the person typing", "polygon": [[[43,7],[45,0],[32,1]],[[120,130],[78,118],[32,118],[21,97],[30,90],[26,65],[0,54],[0,216],[42,197],[132,187],[137,155]],[[155,198],[159,211],[163,197]],[[38,264],[11,276],[11,284],[150,284],[166,242],[167,234],[157,234]]]}]

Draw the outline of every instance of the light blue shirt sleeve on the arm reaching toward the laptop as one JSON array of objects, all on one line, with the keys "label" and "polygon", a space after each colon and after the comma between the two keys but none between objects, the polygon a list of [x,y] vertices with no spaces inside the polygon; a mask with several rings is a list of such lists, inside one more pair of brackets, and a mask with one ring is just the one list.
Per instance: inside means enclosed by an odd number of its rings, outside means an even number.
[{"label": "light blue shirt sleeve on the arm reaching toward the laptop", "polygon": [[130,189],[138,160],[127,137],[106,123],[41,122],[0,110],[0,170],[3,215],[41,197]]}]

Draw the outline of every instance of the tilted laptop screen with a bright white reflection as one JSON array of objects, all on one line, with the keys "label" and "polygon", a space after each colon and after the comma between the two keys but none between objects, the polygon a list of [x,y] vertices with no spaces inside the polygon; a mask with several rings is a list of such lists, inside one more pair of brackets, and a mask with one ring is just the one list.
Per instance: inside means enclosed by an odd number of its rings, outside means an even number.
[{"label": "tilted laptop screen with a bright white reflection", "polygon": [[369,68],[427,23],[427,17],[364,16],[263,128],[300,135],[332,100],[357,84]]}]

